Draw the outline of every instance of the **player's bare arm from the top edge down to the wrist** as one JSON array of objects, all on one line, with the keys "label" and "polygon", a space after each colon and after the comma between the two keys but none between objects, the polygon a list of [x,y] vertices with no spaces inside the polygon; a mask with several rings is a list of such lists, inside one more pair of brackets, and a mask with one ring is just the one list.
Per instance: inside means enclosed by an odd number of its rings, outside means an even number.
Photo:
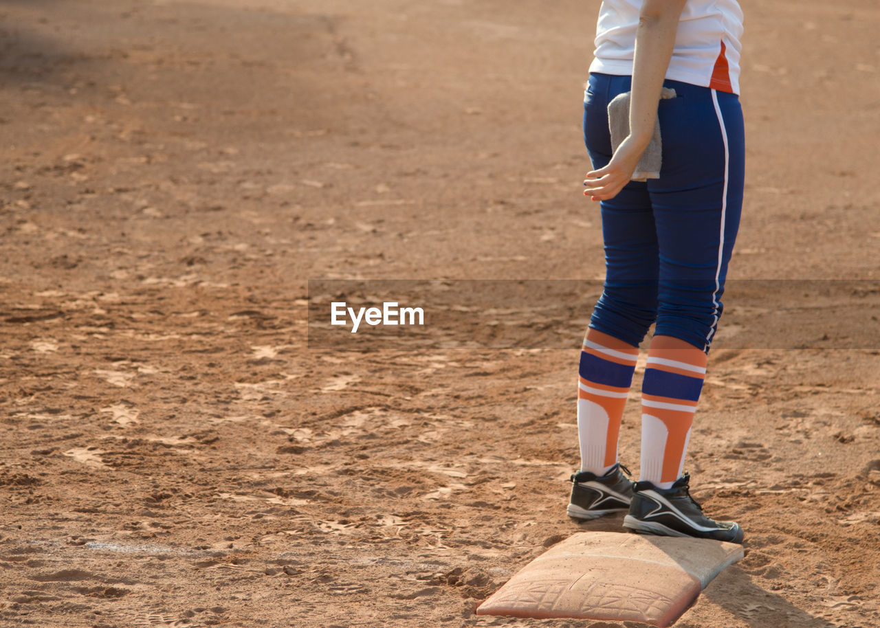
[{"label": "player's bare arm from the top edge down to the wrist", "polygon": [[647,146],[654,134],[657,103],[685,4],[686,0],[645,0],[642,4],[629,105],[630,135],[640,145]]}]

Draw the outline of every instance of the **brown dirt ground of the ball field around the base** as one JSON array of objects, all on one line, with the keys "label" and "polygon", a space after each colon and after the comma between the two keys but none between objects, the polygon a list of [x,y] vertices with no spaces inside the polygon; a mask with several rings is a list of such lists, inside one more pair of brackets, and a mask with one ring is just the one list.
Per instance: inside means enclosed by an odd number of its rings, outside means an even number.
[{"label": "brown dirt ground of the ball field around the base", "polygon": [[[876,294],[880,8],[742,4],[730,278]],[[540,321],[569,348],[307,347],[306,280],[601,277],[597,11],[0,2],[0,624],[584,625],[473,608],[620,529],[565,516],[588,312]],[[686,466],[747,555],[677,625],[880,625],[880,346],[709,364]],[[637,472],[635,402],[621,434]]]}]

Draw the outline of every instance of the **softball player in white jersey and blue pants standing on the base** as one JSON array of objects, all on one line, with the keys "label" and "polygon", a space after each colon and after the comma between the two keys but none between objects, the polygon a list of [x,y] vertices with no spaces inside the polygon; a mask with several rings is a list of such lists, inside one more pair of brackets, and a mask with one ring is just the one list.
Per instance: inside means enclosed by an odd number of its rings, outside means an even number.
[{"label": "softball player in white jersey and blue pants standing on the base", "polygon": [[[736,522],[704,515],[683,473],[743,201],[736,0],[605,0],[584,94],[601,201],[605,286],[583,341],[577,402],[581,471],[568,515],[627,511],[635,532],[741,543]],[[663,87],[676,96],[660,99]],[[627,138],[613,151],[608,103],[630,91]],[[659,120],[659,179],[630,180]],[[656,324],[642,383],[638,482],[617,459],[638,346]],[[628,471],[627,471],[628,474]]]}]

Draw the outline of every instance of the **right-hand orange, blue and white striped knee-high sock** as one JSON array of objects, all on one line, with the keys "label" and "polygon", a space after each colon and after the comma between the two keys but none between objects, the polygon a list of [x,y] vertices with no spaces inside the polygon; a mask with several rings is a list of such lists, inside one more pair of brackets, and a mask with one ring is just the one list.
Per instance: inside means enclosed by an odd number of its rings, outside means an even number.
[{"label": "right-hand orange, blue and white striped knee-high sock", "polygon": [[704,376],[702,349],[671,336],[651,340],[642,380],[640,479],[669,488],[681,477]]}]

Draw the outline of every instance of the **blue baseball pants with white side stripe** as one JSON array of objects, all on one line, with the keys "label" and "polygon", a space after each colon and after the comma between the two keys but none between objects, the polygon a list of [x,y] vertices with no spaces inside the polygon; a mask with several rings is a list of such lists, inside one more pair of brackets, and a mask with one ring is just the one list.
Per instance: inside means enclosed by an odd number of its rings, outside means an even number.
[{"label": "blue baseball pants with white side stripe", "polygon": [[[590,74],[583,135],[593,168],[611,160],[608,103],[631,77]],[[658,106],[659,179],[601,202],[605,286],[590,327],[638,346],[655,334],[708,352],[743,205],[743,112],[736,94],[678,81]]]}]

